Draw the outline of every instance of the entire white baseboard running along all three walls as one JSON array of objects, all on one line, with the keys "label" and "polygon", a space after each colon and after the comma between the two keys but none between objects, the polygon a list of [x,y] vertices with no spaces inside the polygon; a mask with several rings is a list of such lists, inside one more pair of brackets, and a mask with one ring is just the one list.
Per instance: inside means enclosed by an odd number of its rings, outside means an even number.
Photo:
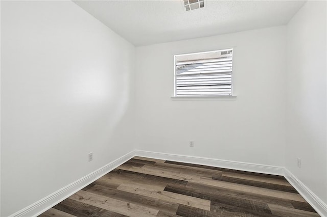
[{"label": "entire white baseboard running along all three walls", "polygon": [[64,200],[65,198],[78,192],[83,187],[94,182],[95,180],[105,175],[106,173],[110,172],[111,170],[115,169],[116,167],[119,167],[120,165],[124,164],[124,162],[126,162],[127,160],[131,159],[134,156],[172,160],[178,162],[186,162],[190,164],[199,164],[199,165],[243,170],[243,171],[256,172],[256,173],[282,175],[293,185],[293,187],[300,193],[300,195],[303,198],[305,198],[321,216],[327,217],[327,205],[320,198],[318,198],[305,184],[303,184],[300,180],[298,180],[290,171],[288,171],[284,167],[252,164],[248,162],[239,162],[239,161],[231,161],[231,160],[221,160],[215,158],[142,151],[142,150],[134,150],[129,152],[128,154],[125,154],[124,156],[110,162],[106,166],[59,189],[57,192],[33,203],[32,205],[10,215],[9,217],[37,216],[42,212],[50,209],[54,205],[58,204],[60,201]]}]

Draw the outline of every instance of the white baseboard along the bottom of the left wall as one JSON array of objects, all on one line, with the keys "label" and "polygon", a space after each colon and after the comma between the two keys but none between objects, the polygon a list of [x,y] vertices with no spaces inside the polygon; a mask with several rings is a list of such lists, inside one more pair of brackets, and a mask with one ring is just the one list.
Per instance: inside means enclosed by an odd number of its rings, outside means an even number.
[{"label": "white baseboard along the bottom of the left wall", "polygon": [[109,164],[105,165],[104,167],[91,172],[90,174],[80,178],[79,180],[68,184],[67,186],[59,189],[57,192],[33,203],[32,205],[15,212],[14,214],[10,215],[9,217],[21,217],[21,216],[37,216],[42,212],[50,209],[54,205],[58,204],[65,198],[75,194],[83,187],[87,186],[88,184],[94,182],[101,176],[109,173],[111,170],[119,167],[120,165],[124,164],[127,160],[131,159],[134,156],[134,151],[125,154],[124,156],[111,161]]}]

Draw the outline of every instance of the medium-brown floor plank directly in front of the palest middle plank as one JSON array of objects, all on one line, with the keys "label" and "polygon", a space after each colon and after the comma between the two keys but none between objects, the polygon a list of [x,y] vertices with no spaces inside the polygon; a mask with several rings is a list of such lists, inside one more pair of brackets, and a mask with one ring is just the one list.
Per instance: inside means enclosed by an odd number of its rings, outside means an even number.
[{"label": "medium-brown floor plank directly in front of the palest middle plank", "polygon": [[94,185],[93,187],[88,188],[87,192],[91,192],[109,198],[114,198],[125,202],[130,202],[140,206],[146,206],[149,208],[161,210],[171,214],[175,214],[178,208],[178,204],[172,203],[170,201],[162,201],[157,198],[137,195],[130,192],[125,192],[119,189],[113,189],[101,185]]}]

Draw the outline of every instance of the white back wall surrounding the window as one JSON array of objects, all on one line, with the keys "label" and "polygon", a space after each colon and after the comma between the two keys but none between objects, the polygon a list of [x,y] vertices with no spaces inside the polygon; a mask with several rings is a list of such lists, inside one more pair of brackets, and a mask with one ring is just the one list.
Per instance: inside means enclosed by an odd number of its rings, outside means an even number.
[{"label": "white back wall surrounding the window", "polygon": [[[285,42],[279,26],[137,47],[137,148],[283,166]],[[231,47],[236,99],[171,99],[173,55]]]}]

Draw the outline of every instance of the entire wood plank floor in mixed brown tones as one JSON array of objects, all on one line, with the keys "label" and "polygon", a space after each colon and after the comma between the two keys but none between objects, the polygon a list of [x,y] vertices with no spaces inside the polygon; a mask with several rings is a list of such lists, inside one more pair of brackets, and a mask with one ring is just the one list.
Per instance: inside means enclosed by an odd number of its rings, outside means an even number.
[{"label": "entire wood plank floor in mixed brown tones", "polygon": [[40,216],[319,216],[283,177],[134,157]]}]

